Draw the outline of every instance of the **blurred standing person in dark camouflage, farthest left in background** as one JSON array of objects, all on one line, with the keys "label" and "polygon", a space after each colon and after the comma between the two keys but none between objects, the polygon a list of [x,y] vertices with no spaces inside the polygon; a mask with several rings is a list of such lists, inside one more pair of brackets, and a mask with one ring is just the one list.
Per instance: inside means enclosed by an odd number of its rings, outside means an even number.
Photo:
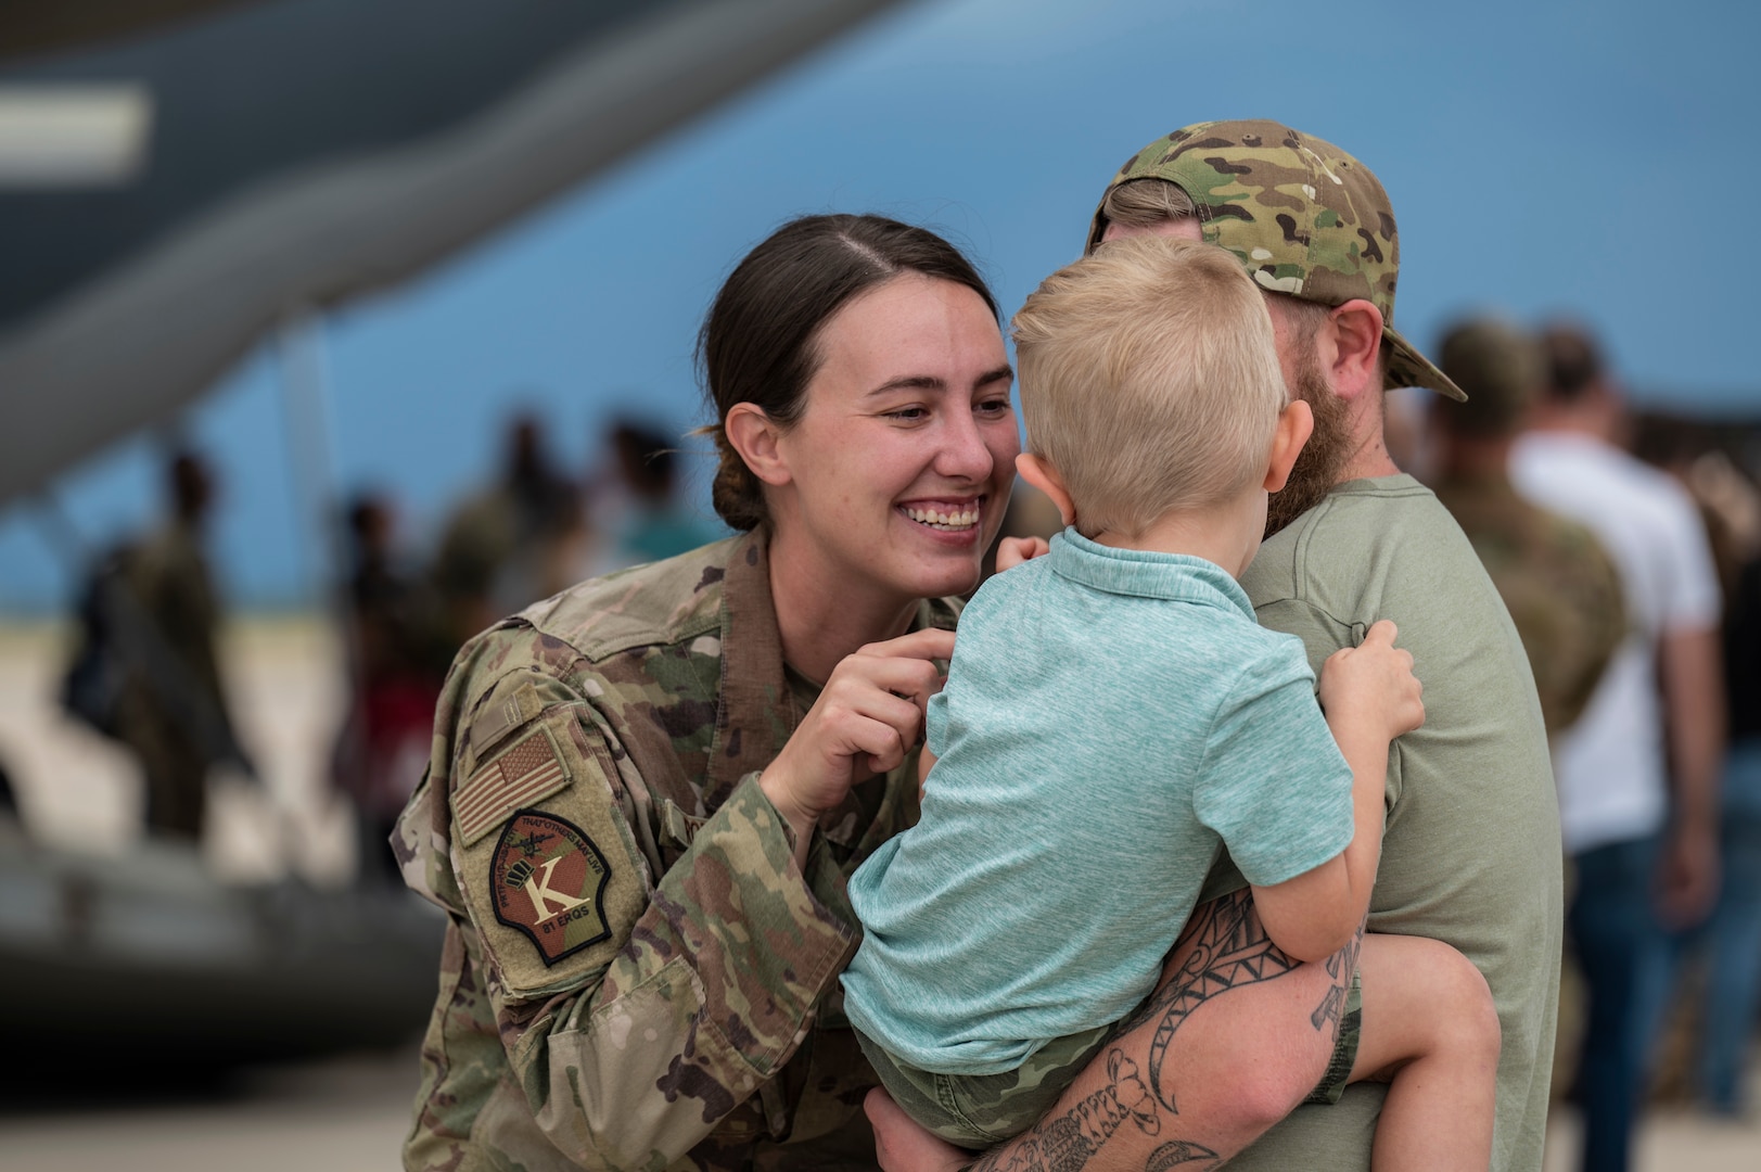
[{"label": "blurred standing person in dark camouflage, farthest left in background", "polygon": [[208,464],[176,453],[166,495],[171,515],[130,546],[113,599],[127,664],[116,735],[146,777],[148,834],[199,842],[210,767],[245,758],[220,682],[220,599],[203,548],[215,497]]}]

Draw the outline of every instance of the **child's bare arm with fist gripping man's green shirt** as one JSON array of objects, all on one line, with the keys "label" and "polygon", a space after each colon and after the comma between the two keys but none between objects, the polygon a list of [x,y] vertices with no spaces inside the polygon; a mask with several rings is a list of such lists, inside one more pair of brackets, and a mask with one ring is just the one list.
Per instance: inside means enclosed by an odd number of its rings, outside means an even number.
[{"label": "child's bare arm with fist gripping man's green shirt", "polygon": [[1412,656],[1395,647],[1395,624],[1384,619],[1361,645],[1333,652],[1321,668],[1321,707],[1351,767],[1351,844],[1294,879],[1254,888],[1266,934],[1298,961],[1321,961],[1344,948],[1370,908],[1382,853],[1388,745],[1425,723]]}]

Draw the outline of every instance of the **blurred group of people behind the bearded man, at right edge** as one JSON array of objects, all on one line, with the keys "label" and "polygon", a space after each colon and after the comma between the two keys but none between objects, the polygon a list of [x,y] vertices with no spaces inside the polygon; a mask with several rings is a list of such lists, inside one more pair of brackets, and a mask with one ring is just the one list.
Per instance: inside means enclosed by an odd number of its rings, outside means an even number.
[{"label": "blurred group of people behind the bearded man, at right edge", "polygon": [[1761,437],[1632,414],[1574,324],[1476,319],[1439,349],[1469,402],[1433,398],[1389,444],[1472,539],[1532,664],[1581,989],[1562,1070],[1583,1167],[1625,1168],[1676,1006],[1694,1098],[1752,1110]]}]

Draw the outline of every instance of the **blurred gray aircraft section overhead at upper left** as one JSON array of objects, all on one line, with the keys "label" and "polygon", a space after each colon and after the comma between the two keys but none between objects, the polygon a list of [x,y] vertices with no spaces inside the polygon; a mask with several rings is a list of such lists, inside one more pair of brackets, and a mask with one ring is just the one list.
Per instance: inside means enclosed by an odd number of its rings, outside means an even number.
[{"label": "blurred gray aircraft section overhead at upper left", "polygon": [[0,502],[893,2],[11,0]]}]

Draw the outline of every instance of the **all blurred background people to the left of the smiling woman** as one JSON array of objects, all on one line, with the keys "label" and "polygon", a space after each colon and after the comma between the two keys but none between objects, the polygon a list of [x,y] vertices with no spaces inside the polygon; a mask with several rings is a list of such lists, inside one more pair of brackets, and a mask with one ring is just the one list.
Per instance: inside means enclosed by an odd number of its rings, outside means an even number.
[{"label": "all blurred background people to the left of the smiling woman", "polygon": [[[722,536],[683,499],[673,437],[616,419],[593,467],[572,476],[546,435],[534,414],[509,421],[498,474],[453,508],[431,552],[405,539],[386,493],[359,493],[340,513],[349,701],[331,779],[356,812],[363,883],[402,885],[386,839],[428,763],[435,698],[467,638],[581,578]],[[62,705],[139,761],[146,832],[194,844],[211,770],[254,767],[220,671],[206,552],[213,469],[176,451],[164,490],[164,520],[88,569]]]}]

